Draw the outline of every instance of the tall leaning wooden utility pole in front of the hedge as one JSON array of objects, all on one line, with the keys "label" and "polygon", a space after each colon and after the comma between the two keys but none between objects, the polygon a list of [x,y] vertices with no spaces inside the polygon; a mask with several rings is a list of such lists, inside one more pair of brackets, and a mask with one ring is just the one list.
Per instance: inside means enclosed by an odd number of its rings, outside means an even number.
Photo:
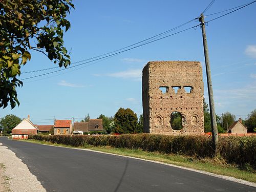
[{"label": "tall leaning wooden utility pole in front of the hedge", "polygon": [[217,154],[217,146],[218,146],[218,130],[217,130],[215,107],[214,107],[214,92],[212,91],[212,83],[211,83],[211,75],[210,75],[210,62],[209,62],[208,46],[207,46],[207,40],[206,40],[205,23],[204,23],[203,13],[200,16],[199,21],[201,23],[202,33],[203,33],[204,58],[205,58],[205,65],[206,65],[206,77],[207,77],[207,87],[208,87],[209,106],[210,106],[212,143],[214,145],[214,150],[215,150],[215,155],[216,155]]}]

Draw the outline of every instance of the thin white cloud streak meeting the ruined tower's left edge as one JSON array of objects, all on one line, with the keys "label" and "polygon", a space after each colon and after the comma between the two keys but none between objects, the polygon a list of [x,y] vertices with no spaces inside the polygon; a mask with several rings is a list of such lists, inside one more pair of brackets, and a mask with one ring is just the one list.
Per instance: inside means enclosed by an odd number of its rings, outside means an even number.
[{"label": "thin white cloud streak meeting the ruined tower's left edge", "polygon": [[120,71],[117,73],[108,74],[108,76],[116,77],[116,78],[124,78],[124,79],[141,80],[142,69],[132,69],[132,70],[127,70],[127,71]]}]

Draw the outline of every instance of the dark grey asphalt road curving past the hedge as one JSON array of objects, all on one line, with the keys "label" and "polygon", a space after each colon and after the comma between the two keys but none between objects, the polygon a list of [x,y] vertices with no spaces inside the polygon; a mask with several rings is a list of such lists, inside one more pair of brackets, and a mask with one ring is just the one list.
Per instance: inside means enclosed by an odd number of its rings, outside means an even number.
[{"label": "dark grey asphalt road curving past the hedge", "polygon": [[177,167],[0,137],[47,191],[256,191]]}]

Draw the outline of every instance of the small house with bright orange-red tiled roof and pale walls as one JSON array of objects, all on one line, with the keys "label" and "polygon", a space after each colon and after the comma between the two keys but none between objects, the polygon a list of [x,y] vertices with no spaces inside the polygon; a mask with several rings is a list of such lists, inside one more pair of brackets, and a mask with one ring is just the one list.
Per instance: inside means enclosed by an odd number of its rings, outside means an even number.
[{"label": "small house with bright orange-red tiled roof and pale walls", "polygon": [[53,126],[54,135],[72,135],[73,126],[71,120],[55,120]]}]

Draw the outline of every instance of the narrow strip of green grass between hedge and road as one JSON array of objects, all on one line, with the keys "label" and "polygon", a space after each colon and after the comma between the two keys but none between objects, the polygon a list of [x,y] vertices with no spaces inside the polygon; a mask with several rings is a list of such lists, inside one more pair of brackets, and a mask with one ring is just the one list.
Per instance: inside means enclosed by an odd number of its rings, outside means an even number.
[{"label": "narrow strip of green grass between hedge and road", "polygon": [[26,142],[39,143],[39,144],[49,144],[55,146],[64,146],[71,148],[87,148],[94,151],[100,151],[105,153],[111,153],[116,155],[136,157],[146,160],[159,161],[168,164],[174,164],[179,166],[184,166],[188,168],[193,168],[197,170],[203,170],[205,172],[230,176],[238,179],[243,179],[246,181],[256,183],[256,172],[250,166],[238,167],[237,165],[227,164],[222,159],[218,157],[215,158],[201,158],[182,155],[172,155],[172,154],[161,154],[157,152],[145,152],[142,150],[130,150],[127,148],[115,148],[110,146],[91,146],[86,145],[83,147],[72,147],[70,145],[50,143],[46,141],[38,140],[23,140]]}]

